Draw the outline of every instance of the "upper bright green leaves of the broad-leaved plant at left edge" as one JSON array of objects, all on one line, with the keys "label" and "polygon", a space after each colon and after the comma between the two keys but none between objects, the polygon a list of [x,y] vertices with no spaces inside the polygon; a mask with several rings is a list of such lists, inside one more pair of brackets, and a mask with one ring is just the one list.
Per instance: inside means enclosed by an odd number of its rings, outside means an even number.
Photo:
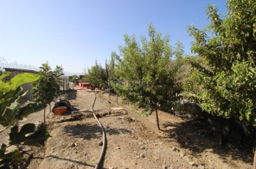
[{"label": "upper bright green leaves of the broad-leaved plant at left edge", "polygon": [[26,95],[26,93],[23,93],[21,85],[38,80],[39,76],[37,74],[18,74],[10,81],[3,81],[9,75],[10,73],[6,73],[0,76],[0,124],[4,127],[11,126],[34,110],[45,107],[45,105],[39,103],[21,104],[19,102]]}]

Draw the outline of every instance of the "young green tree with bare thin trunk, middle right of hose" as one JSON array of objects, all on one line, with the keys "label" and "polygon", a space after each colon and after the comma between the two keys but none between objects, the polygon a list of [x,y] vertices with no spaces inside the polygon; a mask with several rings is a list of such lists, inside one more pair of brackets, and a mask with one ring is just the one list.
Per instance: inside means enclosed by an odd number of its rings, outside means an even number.
[{"label": "young green tree with bare thin trunk, middle right of hose", "polygon": [[171,62],[171,46],[169,37],[157,33],[153,25],[149,25],[149,42],[142,40],[142,49],[145,54],[146,86],[142,88],[142,104],[146,105],[149,112],[156,111],[156,122],[159,127],[157,110],[170,110],[178,100],[181,92],[176,79],[178,66]]}]

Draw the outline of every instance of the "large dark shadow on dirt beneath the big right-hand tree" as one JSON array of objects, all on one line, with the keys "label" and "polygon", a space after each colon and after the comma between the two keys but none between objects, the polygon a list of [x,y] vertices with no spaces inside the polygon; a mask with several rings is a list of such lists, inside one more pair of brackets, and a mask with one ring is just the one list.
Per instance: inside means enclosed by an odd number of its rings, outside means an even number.
[{"label": "large dark shadow on dirt beneath the big right-hand tree", "polygon": [[[227,163],[230,163],[228,157],[231,157],[233,160],[241,160],[252,164],[252,153],[250,154],[246,150],[238,151],[238,149],[228,148],[227,146],[220,147],[218,140],[211,136],[209,130],[203,129],[203,127],[196,127],[191,122],[180,122],[178,124],[164,122],[162,126],[165,128],[162,132],[166,133],[163,136],[164,139],[175,139],[182,148],[192,151],[195,156],[208,150],[218,154]],[[166,129],[167,127],[170,127],[170,129]],[[202,130],[204,131],[203,134]]]}]

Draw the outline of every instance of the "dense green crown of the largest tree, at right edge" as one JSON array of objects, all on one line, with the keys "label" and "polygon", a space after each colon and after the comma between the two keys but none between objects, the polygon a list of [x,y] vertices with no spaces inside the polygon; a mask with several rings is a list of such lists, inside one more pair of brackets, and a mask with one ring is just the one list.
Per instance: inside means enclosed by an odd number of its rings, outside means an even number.
[{"label": "dense green crown of the largest tree, at right edge", "polygon": [[204,61],[191,62],[191,85],[197,89],[193,93],[204,110],[256,126],[256,2],[229,0],[227,6],[225,18],[218,15],[215,6],[208,6],[211,23],[206,29],[188,27],[195,38],[191,51]]}]

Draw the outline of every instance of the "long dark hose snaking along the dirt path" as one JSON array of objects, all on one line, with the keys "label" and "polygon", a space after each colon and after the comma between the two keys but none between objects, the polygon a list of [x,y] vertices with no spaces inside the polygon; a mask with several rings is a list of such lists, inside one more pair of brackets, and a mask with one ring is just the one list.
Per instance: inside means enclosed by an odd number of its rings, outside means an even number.
[{"label": "long dark hose snaking along the dirt path", "polygon": [[[95,100],[96,100],[96,94],[95,94]],[[102,130],[102,142],[103,142],[103,145],[102,145],[102,151],[100,153],[100,158],[99,160],[97,161],[97,164],[95,165],[95,169],[98,169],[100,167],[100,164],[102,163],[102,159],[103,159],[103,156],[105,154],[105,149],[106,149],[106,141],[107,141],[107,137],[106,137],[106,134],[105,134],[105,130],[104,130],[104,127],[102,126],[102,124],[100,123],[100,121],[97,119],[96,115],[94,114],[93,112],[93,107],[95,105],[95,100],[93,101],[92,103],[92,108],[91,108],[91,112],[93,114],[93,116],[95,117],[95,119],[97,120],[97,123],[99,124],[100,126],[100,129]]]}]

